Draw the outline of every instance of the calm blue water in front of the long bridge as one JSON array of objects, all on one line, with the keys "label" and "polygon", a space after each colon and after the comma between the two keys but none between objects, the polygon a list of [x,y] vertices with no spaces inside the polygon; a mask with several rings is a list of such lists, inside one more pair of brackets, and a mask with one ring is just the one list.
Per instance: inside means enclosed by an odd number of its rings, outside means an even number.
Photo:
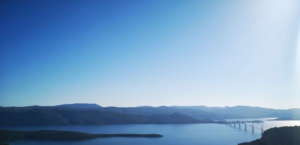
[{"label": "calm blue water in front of the long bridge", "polygon": [[163,138],[98,138],[83,141],[17,141],[11,145],[236,145],[260,138],[221,124],[85,125],[2,128],[10,130],[64,130],[91,134],[160,134]]}]

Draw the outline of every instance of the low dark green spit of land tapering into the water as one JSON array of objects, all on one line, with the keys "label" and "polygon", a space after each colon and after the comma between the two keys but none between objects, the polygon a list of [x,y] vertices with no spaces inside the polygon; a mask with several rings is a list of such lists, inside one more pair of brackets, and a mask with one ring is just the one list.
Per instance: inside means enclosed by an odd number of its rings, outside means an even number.
[{"label": "low dark green spit of land tapering into the water", "polygon": [[87,134],[71,131],[11,131],[0,130],[0,142],[18,140],[87,140],[108,137],[161,138],[158,134]]}]

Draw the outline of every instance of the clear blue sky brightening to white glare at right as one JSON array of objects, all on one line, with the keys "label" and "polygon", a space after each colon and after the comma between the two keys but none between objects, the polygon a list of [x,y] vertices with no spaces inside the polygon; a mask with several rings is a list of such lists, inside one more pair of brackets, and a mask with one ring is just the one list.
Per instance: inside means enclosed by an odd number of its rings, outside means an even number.
[{"label": "clear blue sky brightening to white glare at right", "polygon": [[1,0],[0,106],[300,108],[299,0]]}]

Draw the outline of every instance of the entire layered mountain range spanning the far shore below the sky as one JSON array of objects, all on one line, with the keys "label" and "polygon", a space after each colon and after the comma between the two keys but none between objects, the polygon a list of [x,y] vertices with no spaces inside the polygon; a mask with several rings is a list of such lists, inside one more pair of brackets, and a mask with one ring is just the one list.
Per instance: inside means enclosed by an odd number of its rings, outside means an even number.
[{"label": "entire layered mountain range spanning the far shore below the sky", "polygon": [[101,107],[79,103],[0,107],[0,126],[220,123],[215,120],[268,117],[299,119],[300,109],[249,106]]}]

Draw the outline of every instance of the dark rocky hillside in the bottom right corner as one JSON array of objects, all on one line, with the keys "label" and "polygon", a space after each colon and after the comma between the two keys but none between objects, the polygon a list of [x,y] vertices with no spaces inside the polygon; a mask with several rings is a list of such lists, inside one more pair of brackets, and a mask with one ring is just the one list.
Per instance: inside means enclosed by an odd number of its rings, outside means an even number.
[{"label": "dark rocky hillside in the bottom right corner", "polygon": [[238,145],[300,145],[300,126],[271,128],[260,139]]}]

